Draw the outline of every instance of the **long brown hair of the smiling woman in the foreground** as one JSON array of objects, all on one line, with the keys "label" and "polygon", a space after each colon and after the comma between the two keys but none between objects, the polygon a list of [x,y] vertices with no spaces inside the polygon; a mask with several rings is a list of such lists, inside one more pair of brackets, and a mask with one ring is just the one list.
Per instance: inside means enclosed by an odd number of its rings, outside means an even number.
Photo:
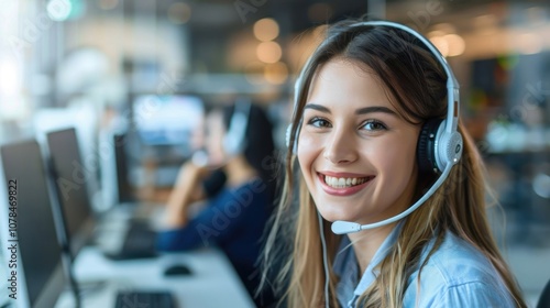
[{"label": "long brown hair of the smiling woman in the foreground", "polygon": [[[314,52],[302,69],[293,114],[290,144],[298,135],[299,122],[307,101],[314,74],[326,63],[339,57],[358,63],[374,72],[385,86],[400,116],[408,122],[422,124],[429,119],[447,114],[447,75],[428,48],[414,35],[387,26],[356,25],[343,21],[329,28],[326,40]],[[351,26],[354,24],[353,26]],[[380,275],[359,299],[364,307],[400,307],[411,268],[422,267],[422,250],[435,239],[429,255],[450,231],[480,250],[501,274],[518,307],[526,307],[521,293],[501,256],[491,235],[486,218],[484,168],[475,144],[459,123],[464,140],[461,161],[448,179],[425,205],[404,221],[397,242],[377,270]],[[299,172],[295,170],[295,155],[286,155],[286,178],[273,228],[264,250],[263,265],[268,270],[278,263],[272,283],[279,286],[288,307],[309,307],[324,304],[324,274],[320,226],[316,206]],[[295,183],[294,179],[297,179]],[[419,174],[415,198],[420,197],[436,179],[435,175]],[[296,194],[298,188],[298,195]],[[299,201],[296,200],[299,196]],[[298,201],[298,202],[296,202]],[[337,252],[341,235],[330,232],[322,221],[328,246],[328,266]],[[280,257],[286,257],[280,264]],[[277,258],[279,261],[277,261]],[[425,261],[426,263],[426,261]],[[264,275],[264,282],[268,275]],[[338,306],[337,278],[330,274],[330,306]]]}]

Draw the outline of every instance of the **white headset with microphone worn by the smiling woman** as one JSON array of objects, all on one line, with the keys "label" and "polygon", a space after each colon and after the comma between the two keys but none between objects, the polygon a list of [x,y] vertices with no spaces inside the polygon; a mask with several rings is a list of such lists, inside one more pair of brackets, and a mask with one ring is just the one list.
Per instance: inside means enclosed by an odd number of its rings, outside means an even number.
[{"label": "white headset with microphone worn by the smiling woman", "polygon": [[[447,98],[448,98],[448,112],[446,119],[430,119],[421,128],[418,143],[417,143],[417,157],[419,170],[422,173],[432,173],[439,175],[438,179],[428,189],[428,191],[418,199],[411,207],[402,213],[391,217],[388,219],[369,223],[359,224],[350,221],[334,221],[331,226],[332,232],[337,234],[345,234],[351,232],[358,232],[366,229],[375,229],[395,221],[398,221],[406,216],[410,215],[418,207],[420,207],[429,197],[431,197],[436,190],[443,184],[443,182],[449,176],[451,168],[455,165],[462,155],[463,141],[462,135],[458,131],[459,123],[459,107],[460,107],[460,92],[459,82],[451,70],[451,67],[447,63],[446,58],[439,53],[439,51],[424,37],[420,33],[415,30],[395,22],[388,21],[366,21],[352,24],[351,26],[365,26],[365,25],[381,25],[391,29],[397,29],[405,31],[418,38],[436,57],[436,59],[441,64],[447,74]],[[311,61],[311,57],[308,59]],[[307,67],[306,65],[305,67]],[[294,101],[294,116],[297,113],[299,89],[304,79],[305,69],[301,70],[298,79],[295,84],[295,101]],[[296,154],[298,146],[298,134],[301,128],[301,121],[298,123],[296,129],[296,135],[294,136],[294,143],[292,150]],[[290,148],[293,124],[287,129],[286,133],[286,144]]]}]

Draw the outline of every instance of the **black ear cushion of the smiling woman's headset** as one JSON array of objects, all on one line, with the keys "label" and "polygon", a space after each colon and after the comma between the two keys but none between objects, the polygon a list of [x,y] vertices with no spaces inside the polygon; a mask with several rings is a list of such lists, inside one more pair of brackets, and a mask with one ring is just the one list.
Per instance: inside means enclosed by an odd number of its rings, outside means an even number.
[{"label": "black ear cushion of the smiling woman's headset", "polygon": [[418,136],[417,160],[420,173],[440,173],[436,162],[438,131],[442,119],[430,119],[424,123]]}]

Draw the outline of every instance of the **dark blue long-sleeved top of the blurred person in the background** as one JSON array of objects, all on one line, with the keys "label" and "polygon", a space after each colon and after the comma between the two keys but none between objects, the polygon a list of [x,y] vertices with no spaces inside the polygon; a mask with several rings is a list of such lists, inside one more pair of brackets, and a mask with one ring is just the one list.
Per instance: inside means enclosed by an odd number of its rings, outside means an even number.
[{"label": "dark blue long-sleeved top of the blurred person in the background", "polygon": [[254,272],[268,218],[266,205],[272,202],[266,187],[261,178],[253,178],[239,187],[222,188],[185,228],[161,232],[158,248],[182,251],[216,244],[246,284],[243,275]]}]

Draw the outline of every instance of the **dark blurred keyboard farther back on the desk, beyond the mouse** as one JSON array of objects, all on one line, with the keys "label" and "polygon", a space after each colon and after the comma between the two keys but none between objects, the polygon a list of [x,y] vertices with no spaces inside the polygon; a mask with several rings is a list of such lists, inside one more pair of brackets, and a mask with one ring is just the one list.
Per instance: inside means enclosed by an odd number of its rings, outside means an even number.
[{"label": "dark blurred keyboard farther back on the desk, beyond the mouse", "polygon": [[156,232],[147,224],[132,222],[125,234],[120,251],[109,253],[112,260],[131,260],[155,257],[156,253]]}]

